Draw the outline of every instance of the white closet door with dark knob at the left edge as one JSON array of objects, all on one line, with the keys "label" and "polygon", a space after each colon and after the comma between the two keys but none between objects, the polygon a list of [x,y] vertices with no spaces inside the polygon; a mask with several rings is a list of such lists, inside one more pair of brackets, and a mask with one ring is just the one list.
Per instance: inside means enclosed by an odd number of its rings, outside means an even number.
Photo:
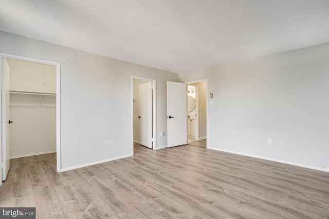
[{"label": "white closet door with dark knob at the left edge", "polygon": [[9,66],[2,59],[2,180],[6,180],[9,171]]}]

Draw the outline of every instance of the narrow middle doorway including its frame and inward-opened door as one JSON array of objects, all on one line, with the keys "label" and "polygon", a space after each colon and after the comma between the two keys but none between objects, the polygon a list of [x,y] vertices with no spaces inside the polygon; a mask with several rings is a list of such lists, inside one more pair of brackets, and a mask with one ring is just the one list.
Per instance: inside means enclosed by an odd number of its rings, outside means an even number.
[{"label": "narrow middle doorway including its frame and inward-opened door", "polygon": [[132,77],[132,151],[134,143],[156,148],[156,81]]}]

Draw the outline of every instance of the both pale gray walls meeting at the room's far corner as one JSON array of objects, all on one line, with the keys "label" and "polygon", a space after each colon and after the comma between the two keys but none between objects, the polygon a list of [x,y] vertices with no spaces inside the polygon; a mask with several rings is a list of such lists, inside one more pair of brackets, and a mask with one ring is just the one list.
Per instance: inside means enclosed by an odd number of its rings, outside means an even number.
[{"label": "both pale gray walls meeting at the room's far corner", "polygon": [[329,44],[178,75],[1,31],[0,39],[0,52],[61,63],[62,168],[131,155],[138,76],[156,79],[158,148],[167,145],[166,82],[208,79],[208,148],[329,171]]}]

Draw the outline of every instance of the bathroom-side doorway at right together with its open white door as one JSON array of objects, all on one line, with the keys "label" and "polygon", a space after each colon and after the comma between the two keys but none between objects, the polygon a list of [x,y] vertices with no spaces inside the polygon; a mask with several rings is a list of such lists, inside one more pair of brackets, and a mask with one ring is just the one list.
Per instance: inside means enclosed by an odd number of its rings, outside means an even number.
[{"label": "bathroom-side doorway at right together with its open white door", "polygon": [[[193,98],[195,105],[191,107],[191,113],[195,114],[190,114],[194,124],[189,121],[189,85],[196,91],[196,98]],[[190,83],[167,82],[167,147],[192,145],[188,142],[188,135],[193,134],[194,142],[202,141],[198,142],[200,147],[207,147],[207,92],[207,79]],[[188,125],[194,125],[194,130],[188,130]]]}]

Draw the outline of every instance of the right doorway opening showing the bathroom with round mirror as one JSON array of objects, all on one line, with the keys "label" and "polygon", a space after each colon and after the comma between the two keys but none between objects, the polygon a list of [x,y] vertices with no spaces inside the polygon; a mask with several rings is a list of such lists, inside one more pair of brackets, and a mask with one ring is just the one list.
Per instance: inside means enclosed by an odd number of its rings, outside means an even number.
[{"label": "right doorway opening showing the bathroom with round mirror", "polygon": [[199,141],[204,146],[207,142],[207,80],[187,84],[188,142],[193,145]]}]

